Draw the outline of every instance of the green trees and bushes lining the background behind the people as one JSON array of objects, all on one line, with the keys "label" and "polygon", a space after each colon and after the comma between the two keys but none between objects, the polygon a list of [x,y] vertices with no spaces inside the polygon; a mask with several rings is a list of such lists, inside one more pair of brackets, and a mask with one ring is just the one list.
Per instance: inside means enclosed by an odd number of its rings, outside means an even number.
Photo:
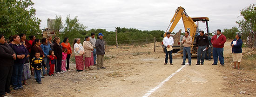
[{"label": "green trees and bushes lining the background behind the people", "polygon": [[[36,9],[32,6],[34,3],[32,0],[0,0],[0,33],[5,37],[9,37],[15,34],[24,33],[27,36],[34,35],[39,38],[42,36],[42,30],[40,30],[41,20],[35,17]],[[252,48],[256,48],[256,4],[251,4],[243,8],[240,12],[243,17],[242,20],[236,21],[237,27],[232,29],[224,29],[223,35],[228,39],[234,39],[236,32],[243,34],[243,41],[247,40],[247,37],[251,40],[250,45]],[[63,24],[61,16],[56,16],[54,29],[60,30],[57,36],[61,39],[69,37],[69,40],[74,38],[84,39],[85,36],[90,36],[91,33],[104,34],[104,39],[109,45],[115,45],[115,31],[107,31],[105,29],[90,29],[86,30],[87,26],[79,22],[78,17],[70,18],[70,15],[66,17],[66,21]],[[162,41],[163,30],[138,30],[135,28],[121,28],[115,27],[117,31],[118,43],[128,44],[133,42],[145,42],[146,37],[152,39],[156,37],[156,41]],[[133,41],[141,40],[141,41]]]}]

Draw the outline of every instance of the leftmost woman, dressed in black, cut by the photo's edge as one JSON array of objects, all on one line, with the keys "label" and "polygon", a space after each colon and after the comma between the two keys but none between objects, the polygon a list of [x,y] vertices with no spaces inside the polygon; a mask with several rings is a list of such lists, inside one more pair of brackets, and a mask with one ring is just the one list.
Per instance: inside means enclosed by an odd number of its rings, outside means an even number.
[{"label": "leftmost woman, dressed in black, cut by the photo's edge", "polygon": [[13,73],[13,64],[16,55],[13,49],[5,42],[5,37],[0,34],[0,96],[4,97],[5,92],[11,93],[10,82]]}]

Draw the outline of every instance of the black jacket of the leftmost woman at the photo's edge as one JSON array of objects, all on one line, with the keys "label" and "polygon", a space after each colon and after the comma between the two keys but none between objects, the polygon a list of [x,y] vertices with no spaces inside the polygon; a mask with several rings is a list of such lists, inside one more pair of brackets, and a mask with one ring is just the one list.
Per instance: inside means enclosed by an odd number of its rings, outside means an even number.
[{"label": "black jacket of the leftmost woman at the photo's edge", "polygon": [[7,43],[0,43],[0,66],[12,67],[14,64],[13,54],[15,52]]}]

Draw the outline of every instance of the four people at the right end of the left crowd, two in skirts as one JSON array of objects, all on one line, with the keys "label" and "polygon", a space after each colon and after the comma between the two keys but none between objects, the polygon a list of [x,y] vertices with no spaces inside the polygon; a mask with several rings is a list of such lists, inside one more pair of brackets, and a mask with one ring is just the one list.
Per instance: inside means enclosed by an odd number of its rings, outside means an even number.
[{"label": "four people at the right end of the left crowd, two in skirts", "polygon": [[[73,47],[77,72],[93,70],[90,66],[96,65],[96,59],[97,69],[106,68],[103,66],[105,55],[103,36],[102,33],[99,33],[96,40],[95,34],[91,33],[90,37],[85,37],[83,44],[81,44],[80,38],[74,39]],[[85,56],[84,60],[83,56]]]}]

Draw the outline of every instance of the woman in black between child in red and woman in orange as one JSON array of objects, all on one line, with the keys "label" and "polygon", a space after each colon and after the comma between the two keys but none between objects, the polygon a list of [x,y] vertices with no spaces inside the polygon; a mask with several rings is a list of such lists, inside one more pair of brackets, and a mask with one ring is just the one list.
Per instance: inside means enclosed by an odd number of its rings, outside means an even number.
[{"label": "woman in black between child in red and woman in orange", "polygon": [[60,37],[54,37],[54,55],[57,57],[56,59],[56,73],[60,74],[63,73],[61,71],[61,59],[62,59],[62,49],[61,49],[61,44],[60,44],[61,40]]}]

